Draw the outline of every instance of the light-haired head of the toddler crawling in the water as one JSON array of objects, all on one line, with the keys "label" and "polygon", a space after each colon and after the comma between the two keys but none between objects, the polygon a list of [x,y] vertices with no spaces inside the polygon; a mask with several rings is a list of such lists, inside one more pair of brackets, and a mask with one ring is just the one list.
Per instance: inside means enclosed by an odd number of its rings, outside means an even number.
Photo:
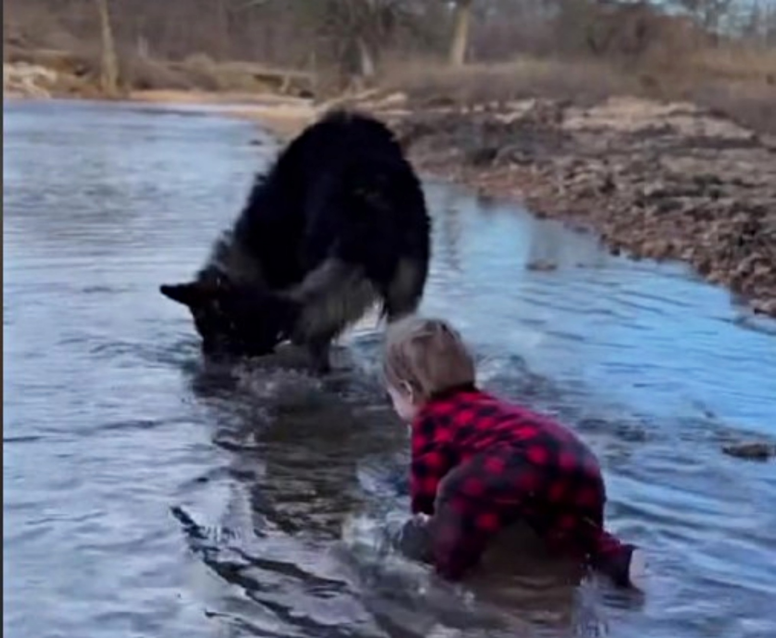
[{"label": "light-haired head of the toddler crawling in the water", "polygon": [[383,375],[393,408],[412,421],[433,395],[474,383],[474,359],[447,321],[406,317],[388,328]]}]

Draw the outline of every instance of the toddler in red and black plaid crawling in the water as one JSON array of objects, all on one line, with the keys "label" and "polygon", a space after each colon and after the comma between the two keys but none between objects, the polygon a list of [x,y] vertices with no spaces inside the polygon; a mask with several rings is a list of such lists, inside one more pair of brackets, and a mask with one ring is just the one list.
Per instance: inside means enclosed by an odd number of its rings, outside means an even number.
[{"label": "toddler in red and black plaid crawling in the water", "polygon": [[523,521],[553,550],[638,586],[643,556],[604,529],[593,452],[563,425],[476,387],[458,331],[419,317],[391,325],[383,373],[411,424],[411,508],[416,522],[431,517],[438,574],[464,576],[497,532]]}]

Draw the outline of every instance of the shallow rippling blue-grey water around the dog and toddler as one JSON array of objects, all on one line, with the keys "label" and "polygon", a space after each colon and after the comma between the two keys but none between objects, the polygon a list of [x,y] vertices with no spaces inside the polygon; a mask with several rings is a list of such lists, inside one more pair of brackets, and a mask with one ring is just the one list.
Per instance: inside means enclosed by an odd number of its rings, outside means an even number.
[{"label": "shallow rippling blue-grey water around the dog and toddler", "polygon": [[4,116],[7,635],[776,635],[776,465],[720,452],[776,436],[776,324],[681,267],[429,184],[424,312],[462,328],[487,387],[590,442],[611,527],[652,570],[636,598],[515,551],[451,588],[381,544],[407,508],[407,434],[376,383],[374,318],[324,382],[293,352],[206,369],[158,293],[274,144],[190,110]]}]

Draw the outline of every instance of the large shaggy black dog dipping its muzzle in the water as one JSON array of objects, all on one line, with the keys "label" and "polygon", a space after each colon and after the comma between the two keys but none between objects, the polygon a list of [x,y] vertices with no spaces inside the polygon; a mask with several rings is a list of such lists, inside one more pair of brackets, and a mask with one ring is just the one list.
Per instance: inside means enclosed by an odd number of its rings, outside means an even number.
[{"label": "large shaggy black dog dipping its muzzle in the water", "polygon": [[431,222],[420,182],[378,120],[336,111],[260,175],[191,283],[161,293],[192,312],[206,354],[265,355],[291,340],[320,372],[369,307],[388,321],[421,300]]}]

